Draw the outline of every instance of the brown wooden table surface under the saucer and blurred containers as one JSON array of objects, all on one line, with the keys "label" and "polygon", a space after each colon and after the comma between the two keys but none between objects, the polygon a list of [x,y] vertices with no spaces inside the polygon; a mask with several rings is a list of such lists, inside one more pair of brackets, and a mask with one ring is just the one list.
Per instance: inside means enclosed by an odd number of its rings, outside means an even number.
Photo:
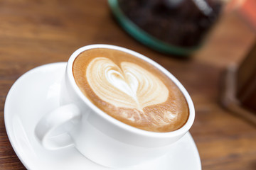
[{"label": "brown wooden table surface under the saucer and blurred containers", "polygon": [[223,13],[201,50],[188,60],[145,47],[122,30],[107,1],[0,0],[0,169],[26,169],[4,125],[4,102],[29,69],[67,62],[79,47],[105,43],[127,47],[159,62],[186,87],[196,107],[190,132],[202,168],[256,169],[256,127],[220,106],[223,69],[239,63],[255,33],[234,12]]}]

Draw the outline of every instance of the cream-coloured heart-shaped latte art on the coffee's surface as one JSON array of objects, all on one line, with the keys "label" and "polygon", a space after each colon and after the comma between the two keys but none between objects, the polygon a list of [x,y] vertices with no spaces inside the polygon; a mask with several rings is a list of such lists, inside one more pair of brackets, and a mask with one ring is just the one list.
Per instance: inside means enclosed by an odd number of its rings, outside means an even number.
[{"label": "cream-coloured heart-shaped latte art on the coffee's surface", "polygon": [[120,67],[106,57],[97,57],[86,69],[92,91],[107,103],[118,108],[142,111],[147,106],[164,103],[169,90],[154,74],[132,62]]}]

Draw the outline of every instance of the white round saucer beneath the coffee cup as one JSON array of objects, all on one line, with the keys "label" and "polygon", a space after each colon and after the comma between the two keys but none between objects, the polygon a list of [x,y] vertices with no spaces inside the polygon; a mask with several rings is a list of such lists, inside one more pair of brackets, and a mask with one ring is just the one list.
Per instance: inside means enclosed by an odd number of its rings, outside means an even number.
[{"label": "white round saucer beneath the coffee cup", "polygon": [[[4,120],[11,145],[27,169],[107,169],[83,157],[75,148],[50,151],[36,140],[34,130],[43,111],[46,108],[52,111],[59,106],[60,81],[65,65],[61,62],[36,67],[23,74],[11,87],[4,106]],[[128,169],[201,170],[201,160],[188,132],[166,156]]]}]

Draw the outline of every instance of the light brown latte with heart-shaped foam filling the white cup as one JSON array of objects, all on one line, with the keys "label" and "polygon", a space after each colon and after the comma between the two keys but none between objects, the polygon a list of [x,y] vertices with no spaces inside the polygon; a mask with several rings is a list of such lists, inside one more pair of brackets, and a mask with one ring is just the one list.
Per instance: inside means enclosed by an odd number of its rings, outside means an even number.
[{"label": "light brown latte with heart-shaped foam filling the white cup", "polygon": [[73,63],[82,93],[98,108],[135,128],[171,132],[188,120],[188,103],[159,69],[119,50],[85,50]]}]

